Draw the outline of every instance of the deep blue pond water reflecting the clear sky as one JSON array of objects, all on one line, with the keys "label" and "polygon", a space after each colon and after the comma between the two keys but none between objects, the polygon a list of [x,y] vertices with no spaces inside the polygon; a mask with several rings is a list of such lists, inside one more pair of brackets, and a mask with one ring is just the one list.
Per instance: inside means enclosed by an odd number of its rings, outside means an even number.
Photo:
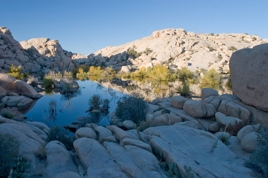
[{"label": "deep blue pond water reflecting the clear sky", "polygon": [[[43,122],[44,121],[44,109],[48,108],[48,103],[51,101],[51,99],[54,99],[57,101],[57,120],[50,121],[49,126],[54,126],[55,124],[65,126],[68,124],[71,124],[73,121],[76,121],[76,118],[79,116],[86,116],[88,113],[85,113],[85,111],[88,110],[88,101],[89,98],[93,94],[99,94],[102,99],[108,98],[110,100],[110,112],[115,111],[115,107],[117,105],[117,98],[113,98],[109,95],[107,92],[106,87],[100,86],[96,82],[92,82],[90,80],[85,81],[77,81],[80,88],[81,88],[81,95],[77,96],[76,98],[70,99],[70,102],[63,99],[62,95],[60,94],[51,94],[44,95],[42,98],[40,98],[34,107],[25,114],[27,118],[27,121],[30,121],[32,118],[32,121],[38,121]],[[125,94],[124,94],[125,95]],[[60,112],[60,110],[62,112]],[[110,114],[108,114],[108,117],[100,124],[100,125],[109,125],[110,124]]]}]

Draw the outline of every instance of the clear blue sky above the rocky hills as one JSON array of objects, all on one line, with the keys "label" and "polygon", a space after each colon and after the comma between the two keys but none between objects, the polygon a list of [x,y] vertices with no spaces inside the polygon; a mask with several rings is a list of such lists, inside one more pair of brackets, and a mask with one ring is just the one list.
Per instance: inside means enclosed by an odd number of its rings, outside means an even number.
[{"label": "clear blue sky above the rocky hills", "polygon": [[[248,33],[268,38],[268,1],[14,1],[0,2],[0,26],[17,41],[46,37],[86,55],[165,28],[197,33]],[[74,27],[91,48],[71,26]]]}]

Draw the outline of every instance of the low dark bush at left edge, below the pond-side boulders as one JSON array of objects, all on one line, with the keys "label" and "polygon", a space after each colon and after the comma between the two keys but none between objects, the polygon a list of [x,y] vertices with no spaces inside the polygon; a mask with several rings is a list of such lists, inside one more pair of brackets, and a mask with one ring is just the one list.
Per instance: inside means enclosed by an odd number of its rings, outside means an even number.
[{"label": "low dark bush at left edge, below the pond-side boulders", "polygon": [[23,121],[24,116],[16,107],[5,107],[0,110],[1,116],[14,121]]}]

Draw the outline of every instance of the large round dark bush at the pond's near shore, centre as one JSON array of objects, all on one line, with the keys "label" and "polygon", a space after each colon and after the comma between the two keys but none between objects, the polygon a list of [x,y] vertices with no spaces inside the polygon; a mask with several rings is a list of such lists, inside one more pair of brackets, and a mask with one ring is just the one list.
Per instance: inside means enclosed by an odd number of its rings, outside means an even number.
[{"label": "large round dark bush at the pond's near shore, centre", "polygon": [[124,97],[117,102],[115,115],[122,120],[131,120],[135,123],[145,120],[145,101],[143,98]]}]

